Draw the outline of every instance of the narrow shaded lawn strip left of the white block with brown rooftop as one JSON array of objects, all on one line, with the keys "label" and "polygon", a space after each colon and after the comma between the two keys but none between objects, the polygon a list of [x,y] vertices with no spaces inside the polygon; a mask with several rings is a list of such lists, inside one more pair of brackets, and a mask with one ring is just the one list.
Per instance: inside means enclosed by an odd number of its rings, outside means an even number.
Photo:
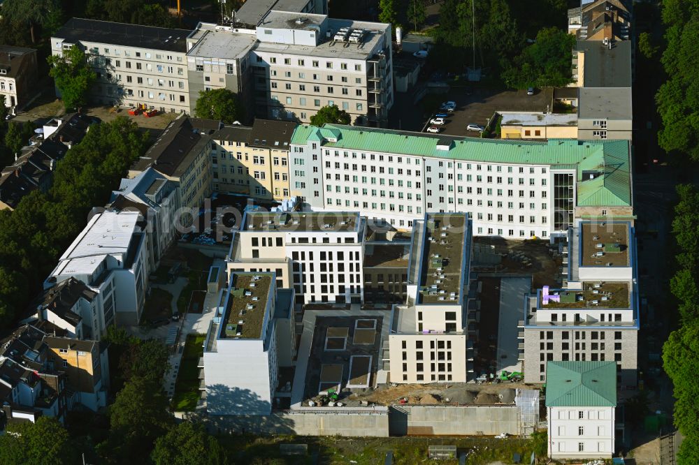
[{"label": "narrow shaded lawn strip left of the white block with brown rooftop", "polygon": [[185,350],[180,361],[175,382],[175,394],[173,395],[172,408],[174,411],[194,411],[199,401],[199,357],[204,353],[203,347],[205,334],[187,334]]}]

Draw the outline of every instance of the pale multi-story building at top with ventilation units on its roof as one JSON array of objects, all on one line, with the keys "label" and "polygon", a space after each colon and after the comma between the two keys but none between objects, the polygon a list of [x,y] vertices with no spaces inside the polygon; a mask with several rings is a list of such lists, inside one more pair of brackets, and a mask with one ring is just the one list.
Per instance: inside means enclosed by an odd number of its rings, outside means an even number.
[{"label": "pale multi-story building at top with ventilation units on its roof", "polygon": [[266,117],[308,122],[337,105],[352,123],[385,126],[393,105],[391,25],[271,11],[251,53]]}]

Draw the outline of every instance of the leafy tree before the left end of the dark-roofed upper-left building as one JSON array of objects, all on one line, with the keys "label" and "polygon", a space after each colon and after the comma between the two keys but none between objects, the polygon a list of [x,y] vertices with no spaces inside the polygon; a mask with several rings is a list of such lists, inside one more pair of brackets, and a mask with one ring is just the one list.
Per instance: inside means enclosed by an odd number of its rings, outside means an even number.
[{"label": "leafy tree before the left end of the dark-roofed upper-left building", "polygon": [[87,55],[73,45],[64,50],[62,55],[48,57],[51,66],[49,75],[53,77],[61,92],[63,105],[69,108],[80,108],[87,103],[87,91],[96,80],[97,75],[89,66]]}]

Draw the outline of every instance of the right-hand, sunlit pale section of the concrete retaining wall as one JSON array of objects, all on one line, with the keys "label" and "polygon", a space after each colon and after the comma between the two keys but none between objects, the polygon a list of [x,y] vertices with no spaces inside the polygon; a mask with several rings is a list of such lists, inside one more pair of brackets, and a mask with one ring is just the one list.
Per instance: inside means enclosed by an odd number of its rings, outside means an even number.
[{"label": "right-hand, sunlit pale section of the concrete retaining wall", "polygon": [[391,436],[519,434],[514,405],[391,406]]}]

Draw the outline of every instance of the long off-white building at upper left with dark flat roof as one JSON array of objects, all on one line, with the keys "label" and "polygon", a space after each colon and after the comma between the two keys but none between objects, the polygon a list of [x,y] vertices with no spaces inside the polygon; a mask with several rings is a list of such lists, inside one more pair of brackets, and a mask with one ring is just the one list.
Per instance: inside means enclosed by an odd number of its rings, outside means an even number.
[{"label": "long off-white building at upper left with dark flat roof", "polygon": [[51,53],[60,55],[78,45],[89,55],[97,73],[90,96],[98,103],[189,112],[190,32],[72,18],[53,34]]}]

